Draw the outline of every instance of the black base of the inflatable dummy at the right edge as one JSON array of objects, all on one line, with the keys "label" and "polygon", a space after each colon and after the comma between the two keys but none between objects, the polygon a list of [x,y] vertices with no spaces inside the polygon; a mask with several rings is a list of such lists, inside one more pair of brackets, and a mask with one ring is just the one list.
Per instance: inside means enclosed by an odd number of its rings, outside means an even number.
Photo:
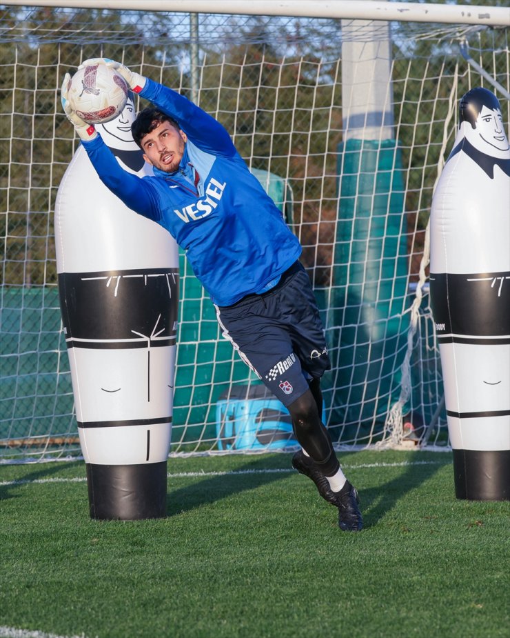
[{"label": "black base of the inflatable dummy at the right edge", "polygon": [[453,472],[458,499],[510,500],[510,450],[453,450]]}]

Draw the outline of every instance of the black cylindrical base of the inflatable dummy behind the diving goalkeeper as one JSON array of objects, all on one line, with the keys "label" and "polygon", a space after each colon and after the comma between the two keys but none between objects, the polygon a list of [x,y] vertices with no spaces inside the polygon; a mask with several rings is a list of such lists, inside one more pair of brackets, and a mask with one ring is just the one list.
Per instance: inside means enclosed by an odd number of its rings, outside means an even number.
[{"label": "black cylindrical base of the inflatable dummy behind the diving goalkeeper", "polygon": [[90,518],[136,521],[167,515],[167,462],[87,468]]}]

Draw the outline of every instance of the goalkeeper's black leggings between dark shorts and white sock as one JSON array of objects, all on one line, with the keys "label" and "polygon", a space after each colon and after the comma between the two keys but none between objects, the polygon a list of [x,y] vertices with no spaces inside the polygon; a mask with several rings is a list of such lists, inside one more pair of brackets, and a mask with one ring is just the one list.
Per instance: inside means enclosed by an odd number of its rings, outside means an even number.
[{"label": "goalkeeper's black leggings between dark shorts and white sock", "polygon": [[320,380],[312,379],[309,382],[309,390],[287,409],[292,417],[294,434],[300,446],[306,450],[325,476],[333,476],[338,471],[340,463],[336,458],[329,432],[320,421],[323,411]]}]

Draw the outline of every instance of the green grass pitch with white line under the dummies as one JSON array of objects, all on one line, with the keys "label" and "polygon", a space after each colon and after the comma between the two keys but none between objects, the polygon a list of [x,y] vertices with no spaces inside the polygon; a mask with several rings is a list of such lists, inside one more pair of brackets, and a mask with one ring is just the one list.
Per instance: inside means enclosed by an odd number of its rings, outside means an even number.
[{"label": "green grass pitch with white line under the dummies", "polygon": [[509,638],[509,504],[449,453],[340,459],[359,534],[286,454],[170,459],[136,522],[90,520],[81,461],[0,466],[0,637]]}]

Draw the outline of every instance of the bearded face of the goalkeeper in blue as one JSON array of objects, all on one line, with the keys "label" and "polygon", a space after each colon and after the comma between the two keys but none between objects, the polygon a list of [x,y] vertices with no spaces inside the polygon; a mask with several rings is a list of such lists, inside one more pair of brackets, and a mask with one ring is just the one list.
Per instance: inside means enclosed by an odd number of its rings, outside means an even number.
[{"label": "bearded face of the goalkeeper in blue", "polygon": [[186,134],[183,131],[170,122],[163,122],[143,137],[143,157],[152,166],[173,173],[183,159],[185,142]]}]

